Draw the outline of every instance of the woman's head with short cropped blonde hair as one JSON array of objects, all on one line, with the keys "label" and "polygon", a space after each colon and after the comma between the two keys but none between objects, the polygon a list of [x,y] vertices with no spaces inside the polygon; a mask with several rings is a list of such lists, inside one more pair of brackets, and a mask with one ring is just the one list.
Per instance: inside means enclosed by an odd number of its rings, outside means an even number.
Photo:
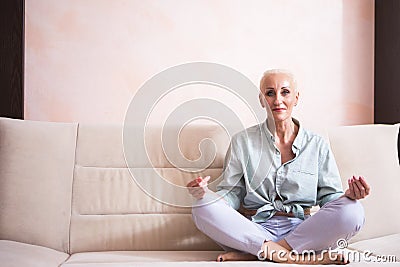
[{"label": "woman's head with short cropped blonde hair", "polygon": [[292,78],[285,73],[269,74],[260,85],[261,105],[263,108],[268,105],[268,115],[272,115],[275,122],[291,119],[298,99],[299,92],[294,88]]}]

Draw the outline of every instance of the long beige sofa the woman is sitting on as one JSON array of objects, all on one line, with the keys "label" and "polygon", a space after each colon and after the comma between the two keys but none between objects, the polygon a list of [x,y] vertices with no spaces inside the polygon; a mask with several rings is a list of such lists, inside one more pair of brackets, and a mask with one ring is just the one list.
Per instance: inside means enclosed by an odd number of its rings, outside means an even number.
[{"label": "long beige sofa the woman is sitting on", "polygon": [[[329,132],[343,178],[363,175],[372,186],[362,201],[366,225],[349,245],[372,254],[351,266],[364,266],[365,260],[376,265],[373,260],[391,255],[400,260],[398,128],[363,125]],[[157,131],[153,134],[153,166],[143,162],[138,167],[143,175],[156,168],[165,179],[185,185],[197,175],[220,174],[229,138],[219,128],[193,126],[182,132],[180,149],[189,159],[199,156],[197,145],[203,138],[214,139],[219,147],[200,174],[172,167],[162,154]],[[0,118],[0,208],[1,266],[266,264],[215,262],[221,249],[195,228],[190,208],[162,204],[132,179],[120,125]]]}]

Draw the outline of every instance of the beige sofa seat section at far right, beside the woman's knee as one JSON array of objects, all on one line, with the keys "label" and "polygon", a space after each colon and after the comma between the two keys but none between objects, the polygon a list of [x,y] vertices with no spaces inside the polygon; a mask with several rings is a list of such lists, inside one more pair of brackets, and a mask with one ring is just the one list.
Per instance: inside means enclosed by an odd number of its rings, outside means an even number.
[{"label": "beige sofa seat section at far right, beside the woman's knee", "polygon": [[[395,259],[400,262],[399,244],[400,234],[398,233],[352,243],[349,245],[349,248],[373,256],[384,256],[386,258],[388,258],[388,256],[394,256]],[[382,260],[383,259],[384,258],[382,258]]]}]

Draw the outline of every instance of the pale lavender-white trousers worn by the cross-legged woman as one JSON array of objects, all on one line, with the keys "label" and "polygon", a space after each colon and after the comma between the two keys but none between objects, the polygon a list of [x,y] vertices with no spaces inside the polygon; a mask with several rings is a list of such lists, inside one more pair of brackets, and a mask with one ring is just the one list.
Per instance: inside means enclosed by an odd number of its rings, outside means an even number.
[{"label": "pale lavender-white trousers worn by the cross-legged woman", "polygon": [[286,242],[301,253],[337,247],[339,239],[349,240],[364,224],[364,209],[359,201],[341,197],[325,204],[305,220],[274,216],[254,223],[231,208],[213,193],[206,193],[192,209],[197,228],[217,242],[225,251],[242,251],[253,255],[265,240]]}]

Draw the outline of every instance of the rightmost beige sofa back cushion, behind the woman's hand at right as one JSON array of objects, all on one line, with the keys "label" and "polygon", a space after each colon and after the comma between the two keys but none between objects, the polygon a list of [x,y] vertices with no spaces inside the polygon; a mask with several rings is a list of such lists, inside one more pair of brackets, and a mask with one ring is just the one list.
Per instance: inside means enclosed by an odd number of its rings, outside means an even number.
[{"label": "rightmost beige sofa back cushion, behind the woman's hand at right", "polygon": [[366,222],[353,242],[400,233],[398,131],[398,125],[344,126],[330,131],[344,188],[353,175],[365,177],[371,186],[370,195],[361,200]]}]

